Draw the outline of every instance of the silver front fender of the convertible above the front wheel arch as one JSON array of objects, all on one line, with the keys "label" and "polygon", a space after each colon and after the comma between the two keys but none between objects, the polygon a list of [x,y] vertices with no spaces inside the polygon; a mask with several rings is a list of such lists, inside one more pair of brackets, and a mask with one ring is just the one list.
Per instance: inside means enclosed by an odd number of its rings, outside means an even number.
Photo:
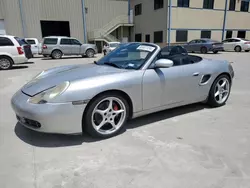
[{"label": "silver front fender of the convertible above the front wheel arch", "polygon": [[142,77],[144,70],[99,76],[70,83],[69,88],[54,102],[89,101],[99,93],[120,90],[126,93],[133,103],[133,112],[142,110]]}]

